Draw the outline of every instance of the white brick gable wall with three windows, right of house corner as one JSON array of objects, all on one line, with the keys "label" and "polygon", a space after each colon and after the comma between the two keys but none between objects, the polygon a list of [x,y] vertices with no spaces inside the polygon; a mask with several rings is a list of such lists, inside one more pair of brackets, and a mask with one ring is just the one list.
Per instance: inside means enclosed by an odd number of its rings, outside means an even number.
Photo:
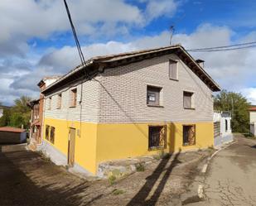
[{"label": "white brick gable wall with three windows, right of house corner", "polygon": [[[169,59],[178,60],[178,81],[169,79]],[[106,69],[99,78],[99,122],[212,121],[210,89],[176,55]],[[162,87],[162,106],[147,106],[147,84]],[[194,92],[195,110],[183,108],[183,91]]]}]

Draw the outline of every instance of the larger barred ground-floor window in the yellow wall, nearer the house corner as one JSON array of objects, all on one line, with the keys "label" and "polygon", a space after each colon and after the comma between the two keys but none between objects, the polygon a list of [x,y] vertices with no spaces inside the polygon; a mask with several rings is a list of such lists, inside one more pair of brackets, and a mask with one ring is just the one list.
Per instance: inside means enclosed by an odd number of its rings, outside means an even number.
[{"label": "larger barred ground-floor window in the yellow wall, nearer the house corner", "polygon": [[148,148],[166,148],[167,146],[167,127],[150,126],[148,127]]}]

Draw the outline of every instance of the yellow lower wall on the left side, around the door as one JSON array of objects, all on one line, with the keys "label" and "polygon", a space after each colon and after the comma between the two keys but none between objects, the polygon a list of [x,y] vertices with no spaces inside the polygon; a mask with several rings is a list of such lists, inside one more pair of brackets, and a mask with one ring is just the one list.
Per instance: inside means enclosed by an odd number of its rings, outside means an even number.
[{"label": "yellow lower wall on the left side, around the door", "polygon": [[[89,122],[71,122],[60,119],[45,119],[44,122],[44,139],[45,126],[49,125],[56,127],[55,142],[51,144],[56,149],[62,152],[65,156],[68,154],[68,135],[70,127],[76,129],[75,134],[75,163],[84,167],[85,170],[95,174],[96,173],[96,136],[97,136],[97,124]],[[77,130],[80,130],[80,136],[77,134]]]}]

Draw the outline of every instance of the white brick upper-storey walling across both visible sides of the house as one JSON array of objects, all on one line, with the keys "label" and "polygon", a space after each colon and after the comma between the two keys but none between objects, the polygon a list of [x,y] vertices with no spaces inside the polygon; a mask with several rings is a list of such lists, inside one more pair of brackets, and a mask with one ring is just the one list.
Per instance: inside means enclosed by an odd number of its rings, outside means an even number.
[{"label": "white brick upper-storey walling across both visible sides of the house", "polygon": [[[178,81],[169,79],[170,58],[178,60]],[[147,85],[162,87],[163,108],[147,106]],[[105,69],[83,88],[81,119],[85,122],[206,122],[213,117],[210,89],[176,55]],[[77,86],[78,102],[80,89]],[[62,90],[61,108],[57,109],[55,93],[46,117],[80,121],[80,104],[70,108],[70,89]],[[195,110],[183,108],[185,90],[194,92]]]}]

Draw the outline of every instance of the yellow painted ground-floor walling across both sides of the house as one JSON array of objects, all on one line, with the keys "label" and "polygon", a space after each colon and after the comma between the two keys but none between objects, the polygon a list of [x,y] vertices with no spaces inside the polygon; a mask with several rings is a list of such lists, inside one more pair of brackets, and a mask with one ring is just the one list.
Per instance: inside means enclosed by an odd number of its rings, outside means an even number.
[{"label": "yellow painted ground-floor walling across both sides of the house", "polygon": [[[195,146],[182,146],[183,124],[196,124]],[[46,119],[45,125],[56,127],[55,143],[53,146],[65,154],[65,156],[67,156],[68,152],[69,128],[80,129],[80,137],[77,133],[75,137],[75,163],[84,167],[85,170],[89,170],[94,175],[97,173],[99,162],[159,154],[161,150],[148,150],[148,125],[167,125],[166,152],[179,151],[180,149],[181,151],[203,149],[214,144],[213,122],[155,122],[147,124],[96,124],[82,122],[80,127],[80,122]]]}]

